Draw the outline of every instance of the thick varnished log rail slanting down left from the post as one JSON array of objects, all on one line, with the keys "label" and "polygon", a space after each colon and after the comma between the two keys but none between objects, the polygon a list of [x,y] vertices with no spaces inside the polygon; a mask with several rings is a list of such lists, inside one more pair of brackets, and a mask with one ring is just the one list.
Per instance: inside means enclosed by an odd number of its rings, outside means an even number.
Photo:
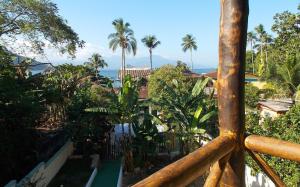
[{"label": "thick varnished log rail slanting down left from the post", "polygon": [[234,147],[235,140],[232,137],[219,136],[204,147],[138,182],[134,187],[186,186],[203,175],[213,163],[230,153]]}]

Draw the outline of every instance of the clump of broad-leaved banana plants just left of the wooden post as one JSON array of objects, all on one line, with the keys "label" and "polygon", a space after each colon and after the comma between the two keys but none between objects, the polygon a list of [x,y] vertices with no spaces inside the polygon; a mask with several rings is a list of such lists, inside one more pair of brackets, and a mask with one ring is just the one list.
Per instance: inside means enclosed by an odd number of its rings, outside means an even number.
[{"label": "clump of broad-leaved banana plants just left of the wooden post", "polygon": [[195,136],[203,138],[207,125],[214,125],[215,103],[203,91],[208,81],[198,80],[186,90],[181,89],[185,84],[183,81],[173,79],[170,84],[162,82],[163,90],[158,98],[153,98],[154,106],[161,113],[158,119],[180,137],[182,154],[201,146]]}]

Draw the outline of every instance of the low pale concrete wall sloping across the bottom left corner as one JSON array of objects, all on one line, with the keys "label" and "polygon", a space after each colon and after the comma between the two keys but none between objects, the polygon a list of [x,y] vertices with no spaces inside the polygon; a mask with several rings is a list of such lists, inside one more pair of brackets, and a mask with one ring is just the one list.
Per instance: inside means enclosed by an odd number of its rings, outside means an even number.
[{"label": "low pale concrete wall sloping across the bottom left corner", "polygon": [[53,155],[46,163],[39,163],[33,170],[31,170],[22,180],[10,181],[5,187],[18,187],[25,185],[32,185],[37,187],[47,186],[49,182],[58,173],[60,168],[64,165],[68,157],[73,153],[73,142],[68,141],[62,148],[60,148],[55,155]]}]

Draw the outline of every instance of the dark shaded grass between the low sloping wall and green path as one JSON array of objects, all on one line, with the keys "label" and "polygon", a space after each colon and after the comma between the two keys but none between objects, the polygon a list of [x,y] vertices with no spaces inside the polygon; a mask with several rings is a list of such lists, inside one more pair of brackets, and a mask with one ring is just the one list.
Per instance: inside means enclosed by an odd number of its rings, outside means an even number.
[{"label": "dark shaded grass between the low sloping wall and green path", "polygon": [[60,169],[49,187],[83,187],[88,182],[92,169],[90,159],[68,159]]}]

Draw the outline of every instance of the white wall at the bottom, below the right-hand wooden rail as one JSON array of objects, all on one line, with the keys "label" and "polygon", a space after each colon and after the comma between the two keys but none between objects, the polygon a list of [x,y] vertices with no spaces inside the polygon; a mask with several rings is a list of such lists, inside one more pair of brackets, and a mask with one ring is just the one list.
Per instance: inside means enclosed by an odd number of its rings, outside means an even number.
[{"label": "white wall at the bottom, below the right-hand wooden rail", "polygon": [[245,168],[245,180],[246,187],[275,187],[271,179],[262,173],[252,176],[251,168],[249,166],[246,166]]}]

